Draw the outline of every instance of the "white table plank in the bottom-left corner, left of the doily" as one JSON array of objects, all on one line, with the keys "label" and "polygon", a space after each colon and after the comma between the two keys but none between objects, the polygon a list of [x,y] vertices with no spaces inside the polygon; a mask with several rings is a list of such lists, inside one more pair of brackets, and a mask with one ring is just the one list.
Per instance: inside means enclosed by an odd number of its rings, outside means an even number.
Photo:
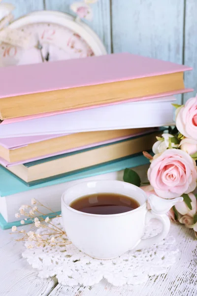
[{"label": "white table plank in the bottom-left corner, left of the doily", "polygon": [[[25,229],[30,227],[27,225]],[[0,296],[48,296],[57,283],[56,278],[38,278],[21,256],[24,244],[15,242],[15,234],[11,236],[10,232],[11,229],[0,229]]]}]

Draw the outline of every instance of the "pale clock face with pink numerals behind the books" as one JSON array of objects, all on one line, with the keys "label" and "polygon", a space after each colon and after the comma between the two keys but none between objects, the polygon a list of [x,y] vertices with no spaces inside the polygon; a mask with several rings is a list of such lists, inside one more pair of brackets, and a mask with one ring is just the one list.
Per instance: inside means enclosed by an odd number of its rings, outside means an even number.
[{"label": "pale clock face with pink numerals behind the books", "polygon": [[0,66],[35,64],[93,56],[88,43],[65,26],[55,23],[32,23],[17,28],[31,34],[31,46],[21,48],[0,44]]}]

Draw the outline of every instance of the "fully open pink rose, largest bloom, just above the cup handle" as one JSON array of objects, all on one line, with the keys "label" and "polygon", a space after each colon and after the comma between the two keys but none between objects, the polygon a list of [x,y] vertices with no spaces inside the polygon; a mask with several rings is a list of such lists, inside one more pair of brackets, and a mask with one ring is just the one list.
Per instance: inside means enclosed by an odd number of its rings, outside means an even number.
[{"label": "fully open pink rose, largest bloom, just above the cup handle", "polygon": [[180,149],[167,149],[153,157],[148,180],[157,195],[171,199],[192,192],[197,186],[194,159]]}]

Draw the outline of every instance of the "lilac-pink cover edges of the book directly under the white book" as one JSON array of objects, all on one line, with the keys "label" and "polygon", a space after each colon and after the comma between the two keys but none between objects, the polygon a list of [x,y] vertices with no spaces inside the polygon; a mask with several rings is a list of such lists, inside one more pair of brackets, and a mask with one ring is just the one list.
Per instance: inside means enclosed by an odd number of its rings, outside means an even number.
[{"label": "lilac-pink cover edges of the book directly under the white book", "polygon": [[[10,166],[18,165],[18,164],[28,163],[28,162],[38,160],[38,159],[44,159],[44,158],[48,158],[48,157],[55,156],[55,155],[61,155],[61,154],[65,154],[65,153],[69,153],[69,152],[73,152],[73,151],[79,151],[79,150],[86,149],[86,148],[96,147],[96,146],[100,146],[100,145],[104,145],[104,144],[108,144],[108,143],[113,143],[113,142],[129,139],[129,138],[133,138],[133,137],[136,137],[136,136],[145,135],[145,134],[154,132],[157,129],[158,128],[152,128],[152,129],[149,129],[146,132],[136,133],[136,134],[129,135],[129,136],[118,137],[118,138],[107,140],[107,141],[93,143],[91,145],[86,145],[86,146],[81,146],[81,147],[77,147],[77,148],[67,149],[67,150],[56,152],[56,153],[51,153],[51,154],[47,154],[47,155],[44,155],[44,156],[42,155],[42,156],[39,156],[39,157],[33,157],[33,158],[30,158],[30,159],[21,160],[21,161],[12,162],[12,163],[8,162],[7,160],[0,157],[0,164],[2,166],[4,166],[4,167],[10,167]],[[10,147],[17,148],[16,145],[18,145],[18,148],[20,148],[20,147],[24,147],[25,145],[28,145],[28,143],[35,143],[35,142],[42,141],[43,139],[47,140],[47,139],[51,139],[51,138],[56,138],[58,136],[59,135],[0,139],[0,145],[5,147],[5,148],[10,148]],[[25,140],[24,138],[27,138],[27,139]],[[17,140],[17,141],[15,142],[15,140]]]}]

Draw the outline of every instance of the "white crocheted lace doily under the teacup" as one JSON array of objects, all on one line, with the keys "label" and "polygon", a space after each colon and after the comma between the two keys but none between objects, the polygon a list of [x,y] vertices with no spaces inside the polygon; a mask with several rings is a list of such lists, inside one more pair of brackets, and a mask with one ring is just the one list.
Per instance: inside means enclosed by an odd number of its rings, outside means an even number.
[{"label": "white crocheted lace doily under the teacup", "polygon": [[[63,229],[62,218],[54,218],[53,223]],[[150,222],[143,238],[154,236],[160,230],[160,222]],[[39,228],[37,233],[44,234],[46,231]],[[111,260],[93,259],[73,244],[64,247],[35,247],[26,250],[22,256],[38,270],[39,277],[56,276],[63,285],[92,286],[105,278],[114,286],[122,286],[142,284],[152,275],[166,273],[174,264],[178,252],[175,239],[168,236],[149,249],[130,251]]]}]

